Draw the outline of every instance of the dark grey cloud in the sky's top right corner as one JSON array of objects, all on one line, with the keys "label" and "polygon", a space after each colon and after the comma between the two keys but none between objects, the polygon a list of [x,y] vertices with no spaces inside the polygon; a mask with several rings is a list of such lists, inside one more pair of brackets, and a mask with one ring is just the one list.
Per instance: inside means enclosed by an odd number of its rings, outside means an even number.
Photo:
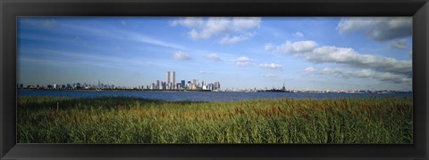
[{"label": "dark grey cloud in the sky's top right corner", "polygon": [[340,34],[363,32],[371,39],[385,41],[412,34],[411,17],[343,18],[337,26]]}]

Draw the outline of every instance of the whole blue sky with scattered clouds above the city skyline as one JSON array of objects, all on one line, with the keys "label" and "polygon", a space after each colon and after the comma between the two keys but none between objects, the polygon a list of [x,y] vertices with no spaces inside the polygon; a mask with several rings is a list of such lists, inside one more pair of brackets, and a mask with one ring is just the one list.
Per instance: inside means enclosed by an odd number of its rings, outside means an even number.
[{"label": "whole blue sky with scattered clouds above the city skyline", "polygon": [[21,17],[20,84],[411,90],[411,17]]}]

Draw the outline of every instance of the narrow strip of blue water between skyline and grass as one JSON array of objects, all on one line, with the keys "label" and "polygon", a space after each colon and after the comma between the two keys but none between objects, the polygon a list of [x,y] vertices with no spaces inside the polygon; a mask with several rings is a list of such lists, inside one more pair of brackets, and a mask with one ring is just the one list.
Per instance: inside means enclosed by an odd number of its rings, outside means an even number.
[{"label": "narrow strip of blue water between skyline and grass", "polygon": [[307,92],[139,92],[139,91],[18,91],[18,96],[73,98],[133,97],[157,100],[231,101],[253,99],[411,98],[412,93],[307,93]]}]

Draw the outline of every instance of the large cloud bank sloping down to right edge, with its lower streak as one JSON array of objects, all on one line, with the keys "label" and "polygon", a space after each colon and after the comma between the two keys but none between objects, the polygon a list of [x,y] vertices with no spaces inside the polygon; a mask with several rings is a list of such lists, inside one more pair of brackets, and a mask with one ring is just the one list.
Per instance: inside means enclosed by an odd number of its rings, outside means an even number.
[{"label": "large cloud bank sloping down to right edge, with its lower streak", "polygon": [[[308,67],[304,69],[305,74],[317,71],[319,74],[329,74],[343,78],[373,77],[380,81],[393,83],[411,82],[411,60],[396,60],[379,55],[362,54],[352,48],[336,46],[315,47],[316,45],[313,41],[307,41],[306,43],[301,41],[296,43],[288,42],[279,46],[270,44],[269,46],[273,52],[288,52],[313,63],[340,64],[346,68],[362,69],[356,72],[347,72],[342,69],[324,68],[317,70],[313,67]],[[304,50],[303,48],[307,49]]]}]

